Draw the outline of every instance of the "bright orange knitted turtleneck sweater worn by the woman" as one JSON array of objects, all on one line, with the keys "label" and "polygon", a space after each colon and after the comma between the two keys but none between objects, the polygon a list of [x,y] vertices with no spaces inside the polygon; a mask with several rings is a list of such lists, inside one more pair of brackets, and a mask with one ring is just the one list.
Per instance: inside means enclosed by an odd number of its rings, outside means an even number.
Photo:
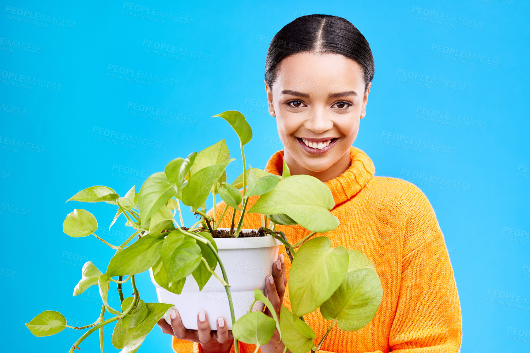
[{"label": "bright orange knitted turtleneck sweater worn by the woman", "polygon": [[[283,151],[275,153],[266,170],[281,175],[282,157]],[[427,197],[405,180],[374,176],[372,160],[356,147],[350,148],[350,160],[348,170],[325,183],[335,200],[331,213],[339,218],[340,225],[322,235],[331,239],[333,247],[356,249],[372,260],[381,278],[383,301],[364,328],[346,332],[335,325],[322,351],[458,352],[462,341],[460,301],[444,236]],[[256,200],[257,196],[249,199],[247,210]],[[219,203],[217,209],[224,205]],[[229,227],[229,221],[225,217],[222,226]],[[259,214],[245,216],[244,228],[260,226]],[[291,243],[308,234],[299,225],[277,225],[276,229]],[[285,247],[280,246],[280,251],[289,278]],[[284,306],[290,310],[288,287]],[[319,310],[304,315],[304,319],[314,329],[318,343],[331,321]],[[175,337],[173,349],[177,353],[199,351],[198,343]],[[255,345],[240,342],[240,352],[252,353],[254,349]]]}]

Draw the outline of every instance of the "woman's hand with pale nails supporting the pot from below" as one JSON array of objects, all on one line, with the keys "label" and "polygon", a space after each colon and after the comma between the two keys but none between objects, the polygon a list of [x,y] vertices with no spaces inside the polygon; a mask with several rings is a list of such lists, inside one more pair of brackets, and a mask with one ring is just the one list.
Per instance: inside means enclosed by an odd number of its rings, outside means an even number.
[{"label": "woman's hand with pale nails supporting the pot from below", "polygon": [[234,336],[228,331],[226,320],[222,316],[217,318],[217,331],[210,330],[208,314],[201,311],[197,314],[197,330],[188,330],[182,324],[179,312],[171,310],[171,325],[164,318],[158,321],[162,332],[172,334],[178,339],[198,342],[205,353],[227,353],[232,348]]}]

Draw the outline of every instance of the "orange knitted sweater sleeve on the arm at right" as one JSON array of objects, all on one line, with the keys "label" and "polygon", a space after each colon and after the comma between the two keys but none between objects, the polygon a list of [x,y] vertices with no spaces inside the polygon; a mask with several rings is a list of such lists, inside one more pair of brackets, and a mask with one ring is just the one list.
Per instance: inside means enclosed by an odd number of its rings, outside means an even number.
[{"label": "orange knitted sweater sleeve on the arm at right", "polygon": [[400,353],[456,353],[462,342],[462,316],[451,260],[432,206],[414,188],[388,345]]}]

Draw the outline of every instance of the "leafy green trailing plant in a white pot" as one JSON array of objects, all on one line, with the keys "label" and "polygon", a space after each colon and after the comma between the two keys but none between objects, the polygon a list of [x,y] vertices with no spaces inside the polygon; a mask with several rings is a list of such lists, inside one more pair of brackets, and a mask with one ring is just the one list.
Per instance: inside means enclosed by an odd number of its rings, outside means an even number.
[{"label": "leafy green trailing plant in a white pot", "polygon": [[[382,287],[370,260],[356,250],[332,248],[329,238],[312,238],[317,232],[339,225],[330,213],[334,202],[329,189],[314,177],[291,176],[285,161],[282,176],[247,169],[243,147],[252,138],[250,125],[237,111],[214,116],[225,119],[240,139],[244,172],[233,183],[226,182],[225,169],[234,159],[222,140],[187,158],[173,159],[164,171],[149,176],[138,193],[133,186],[120,197],[110,187],[92,186],[68,200],[114,204],[118,210],[110,227],[123,214],[126,225],[135,232],[118,247],[94,233],[98,222],[90,212],[75,209],[66,216],[63,229],[68,236],[94,235],[116,254],[105,273],[90,261],[85,263],[74,288],[73,295],[78,295],[98,285],[103,302],[98,319],[77,328],[67,325],[62,314],[44,311],[26,324],[35,336],[49,336],[65,327],[88,329],[72,345],[71,353],[99,330],[103,351],[103,326],[118,321],[112,334],[113,346],[122,352],[135,352],[155,323],[176,306],[187,328],[197,328],[196,314],[200,310],[211,313],[211,318],[230,316],[227,324],[234,334],[236,352],[237,340],[259,347],[271,339],[276,328],[286,349],[306,353],[319,350],[328,333],[315,344],[316,335],[303,321],[303,315],[320,308],[324,318],[332,320],[328,332],[334,324],[342,330],[358,330],[373,319],[382,300]],[[209,215],[206,201],[210,193],[214,206]],[[226,203],[218,217],[216,195]],[[245,212],[251,196],[259,198]],[[180,202],[200,218],[189,228],[184,227]],[[228,206],[233,208],[231,228],[218,229]],[[241,211],[237,222],[236,210]],[[175,220],[176,213],[180,222]],[[245,213],[261,214],[261,227],[242,231]],[[275,230],[276,224],[299,224],[310,233],[291,245],[284,233]],[[280,245],[286,247],[292,261],[292,312],[282,307],[281,320],[274,310],[273,318],[262,312],[263,305],[271,307],[264,295],[264,278],[271,273]],[[243,263],[243,269],[250,266],[250,271],[239,270]],[[160,303],[140,299],[135,275],[146,270]],[[117,284],[121,310],[107,301],[111,282]],[[124,298],[122,285],[127,282],[134,296]],[[259,310],[252,312],[253,307]],[[113,316],[105,319],[105,312]],[[210,327],[216,329],[215,321]]]}]

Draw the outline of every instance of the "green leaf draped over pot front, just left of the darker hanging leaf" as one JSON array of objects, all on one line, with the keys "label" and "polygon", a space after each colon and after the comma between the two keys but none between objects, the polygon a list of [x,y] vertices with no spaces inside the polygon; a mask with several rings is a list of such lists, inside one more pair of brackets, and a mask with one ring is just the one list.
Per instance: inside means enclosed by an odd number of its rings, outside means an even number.
[{"label": "green leaf draped over pot front, just left of the darker hanging leaf", "polygon": [[183,242],[173,251],[167,278],[170,282],[177,282],[187,277],[199,266],[201,258],[201,251],[195,239]]}]

